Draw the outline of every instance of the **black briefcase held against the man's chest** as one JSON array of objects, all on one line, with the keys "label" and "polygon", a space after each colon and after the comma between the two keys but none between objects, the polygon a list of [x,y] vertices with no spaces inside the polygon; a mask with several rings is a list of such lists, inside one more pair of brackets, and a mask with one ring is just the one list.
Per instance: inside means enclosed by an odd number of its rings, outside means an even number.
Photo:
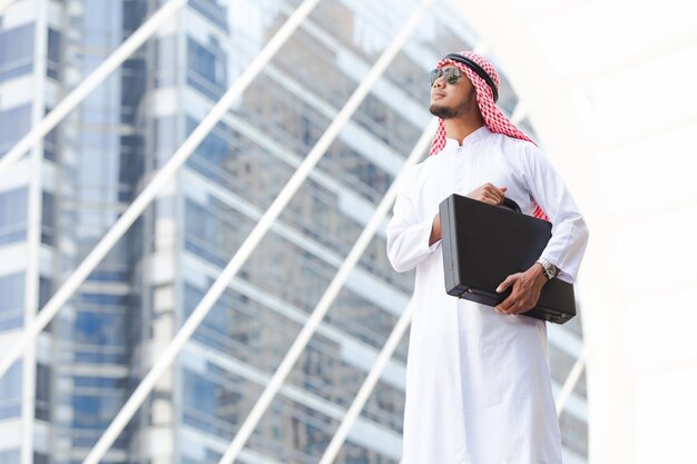
[{"label": "black briefcase held against the man's chest", "polygon": [[[520,213],[507,198],[488,205],[457,194],[439,206],[445,292],[459,298],[495,306],[511,288],[495,288],[511,274],[534,264],[552,236],[552,225]],[[526,316],[563,324],[576,316],[573,285],[553,278],[542,287],[537,306]]]}]

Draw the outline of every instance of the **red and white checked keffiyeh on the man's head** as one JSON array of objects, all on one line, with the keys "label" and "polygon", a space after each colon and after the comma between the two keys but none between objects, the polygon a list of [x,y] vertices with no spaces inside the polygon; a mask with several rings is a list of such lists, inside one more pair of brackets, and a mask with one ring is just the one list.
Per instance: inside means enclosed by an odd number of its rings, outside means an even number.
[{"label": "red and white checked keffiyeh on the man's head", "polygon": [[[458,55],[461,55],[479,65],[491,77],[497,86],[497,90],[499,89],[499,73],[489,60],[471,51],[461,51]],[[477,105],[479,106],[482,118],[484,119],[484,124],[487,125],[489,130],[497,134],[503,134],[505,136],[517,139],[528,140],[529,142],[534,144],[532,139],[530,139],[522,131],[520,131],[520,129],[518,129],[511,121],[509,121],[508,118],[501,112],[501,110],[497,108],[497,105],[493,101],[493,91],[491,87],[489,87],[489,85],[484,81],[484,79],[482,79],[471,68],[451,59],[443,59],[436,65],[436,68],[440,69],[445,65],[452,65],[458,68],[468,77],[468,79],[470,79],[472,86],[474,86],[474,89],[477,91]],[[445,147],[445,125],[443,124],[442,119],[439,119],[435,137],[433,138],[433,142],[431,144],[430,156],[436,155],[443,149],[443,147]],[[547,215],[542,211],[542,209],[540,209],[539,206],[536,207],[532,216],[549,220]]]}]

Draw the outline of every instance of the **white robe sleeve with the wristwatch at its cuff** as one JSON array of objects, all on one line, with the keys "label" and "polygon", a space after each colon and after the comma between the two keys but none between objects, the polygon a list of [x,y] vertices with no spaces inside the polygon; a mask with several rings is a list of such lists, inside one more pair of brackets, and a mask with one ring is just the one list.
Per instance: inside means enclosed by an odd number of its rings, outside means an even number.
[{"label": "white robe sleeve with the wristwatch at its cuff", "polygon": [[532,199],[552,223],[552,238],[540,258],[556,265],[560,270],[558,277],[572,284],[588,244],[586,221],[559,174],[532,144],[526,144],[522,165]]}]

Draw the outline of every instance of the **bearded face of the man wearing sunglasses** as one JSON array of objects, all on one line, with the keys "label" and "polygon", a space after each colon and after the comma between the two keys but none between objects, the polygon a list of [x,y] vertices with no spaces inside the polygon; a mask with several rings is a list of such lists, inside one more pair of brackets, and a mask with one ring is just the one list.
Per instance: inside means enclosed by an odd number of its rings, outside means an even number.
[{"label": "bearded face of the man wearing sunglasses", "polygon": [[[457,69],[452,65],[445,65],[442,70]],[[470,79],[460,71],[461,76],[454,83],[448,83],[444,76],[439,77],[431,87],[431,107],[433,116],[441,119],[452,119],[465,115],[472,106],[477,106],[474,86]],[[479,110],[479,107],[477,108]]]}]

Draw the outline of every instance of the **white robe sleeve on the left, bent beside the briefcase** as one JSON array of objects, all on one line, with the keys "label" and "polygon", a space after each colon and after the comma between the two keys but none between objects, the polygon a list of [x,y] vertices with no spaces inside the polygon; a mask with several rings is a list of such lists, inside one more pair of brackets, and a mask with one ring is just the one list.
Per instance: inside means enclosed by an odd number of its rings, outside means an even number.
[{"label": "white robe sleeve on the left, bent beside the briefcase", "polygon": [[394,203],[393,216],[387,224],[387,258],[397,273],[415,268],[433,253],[440,240],[429,246],[433,217],[419,220],[416,203],[412,199],[413,172],[402,182]]}]

